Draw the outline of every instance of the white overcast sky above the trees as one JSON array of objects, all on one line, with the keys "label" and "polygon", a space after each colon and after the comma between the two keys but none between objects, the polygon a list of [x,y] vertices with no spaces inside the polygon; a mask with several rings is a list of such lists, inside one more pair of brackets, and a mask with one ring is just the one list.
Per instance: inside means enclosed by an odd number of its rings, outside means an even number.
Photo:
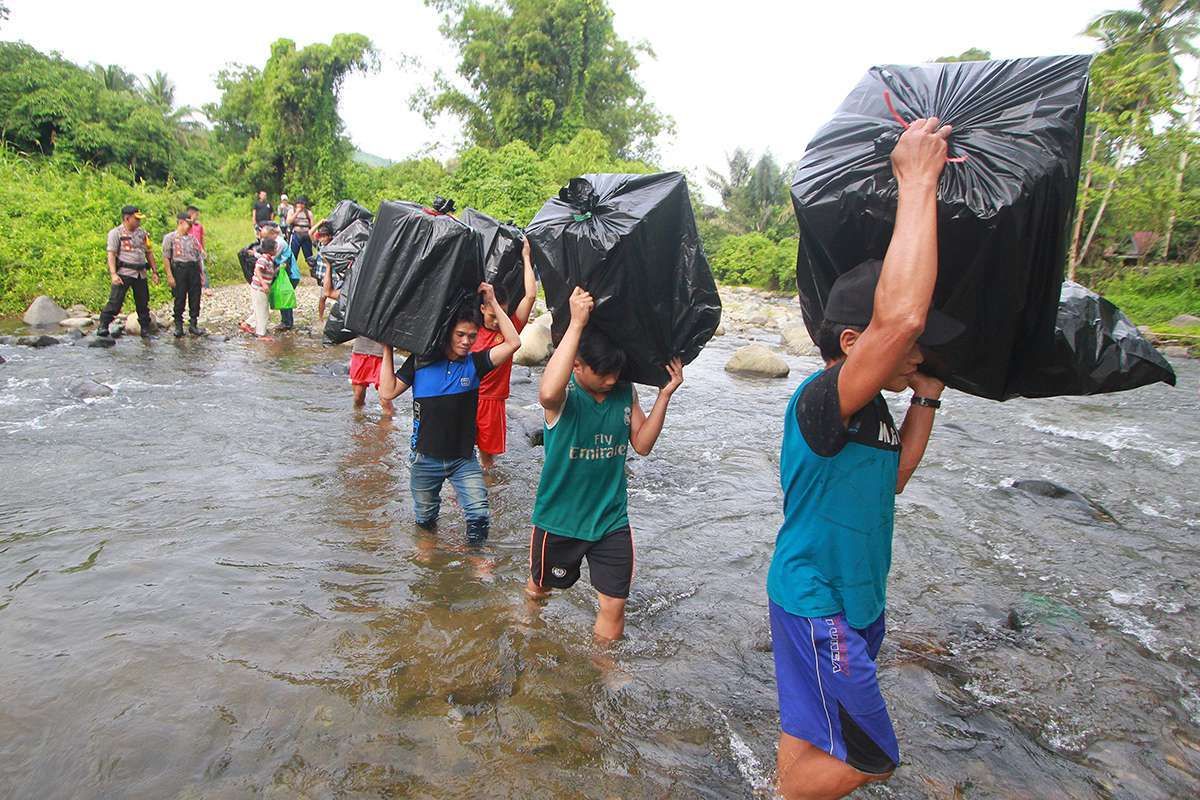
[{"label": "white overcast sky above the trees", "polygon": [[[214,76],[228,62],[262,66],[270,42],[328,41],[338,31],[368,35],[379,48],[378,73],[350,78],[342,116],[355,145],[386,158],[452,154],[458,125],[430,128],[408,98],[456,58],[420,0],[107,7],[95,1],[6,0],[11,18],[0,37],[23,40],[86,64],[120,64],[144,74],[162,70],[180,103],[217,100]],[[1090,53],[1079,36],[1087,20],[1133,0],[854,0],[852,2],[677,2],[610,0],[616,28],[646,41],[656,59],[640,78],[649,97],[676,120],[660,142],[662,166],[721,167],[736,146],[770,150],[793,161],[872,64],[928,61],[970,47],[995,58]],[[256,8],[277,10],[270,13]],[[421,67],[401,66],[401,56]]]}]

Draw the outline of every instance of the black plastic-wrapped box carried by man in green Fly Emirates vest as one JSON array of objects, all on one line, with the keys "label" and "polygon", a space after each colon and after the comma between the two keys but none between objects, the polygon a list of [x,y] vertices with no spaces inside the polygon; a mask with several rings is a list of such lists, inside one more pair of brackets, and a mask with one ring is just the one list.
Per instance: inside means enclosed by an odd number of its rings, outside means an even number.
[{"label": "black plastic-wrapped box carried by man in green Fly Emirates vest", "polygon": [[596,325],[628,356],[626,380],[661,386],[664,367],[691,362],[721,321],[721,300],[679,173],[572,179],[526,228],[553,311],[570,323],[575,287],[592,293]]}]

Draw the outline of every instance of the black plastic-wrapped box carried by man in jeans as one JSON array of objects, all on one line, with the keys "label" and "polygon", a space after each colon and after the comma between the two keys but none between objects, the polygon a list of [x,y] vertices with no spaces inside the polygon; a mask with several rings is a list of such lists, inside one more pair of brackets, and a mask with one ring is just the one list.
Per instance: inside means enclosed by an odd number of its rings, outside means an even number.
[{"label": "black plastic-wrapped box carried by man in jeans", "polygon": [[482,279],[476,231],[415,203],[384,201],[350,270],[346,327],[427,355],[440,347],[457,307],[478,303]]}]

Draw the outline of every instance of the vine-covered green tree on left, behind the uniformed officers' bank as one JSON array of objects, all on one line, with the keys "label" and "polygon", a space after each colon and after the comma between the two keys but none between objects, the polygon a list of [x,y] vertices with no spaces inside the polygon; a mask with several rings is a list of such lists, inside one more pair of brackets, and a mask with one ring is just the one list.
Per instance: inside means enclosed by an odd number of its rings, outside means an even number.
[{"label": "vine-covered green tree on left, behind the uniformed officers' bank", "polygon": [[337,199],[353,152],[342,134],[338,92],[352,72],[377,65],[370,38],[337,34],[329,44],[302,49],[281,38],[262,71],[240,65],[222,70],[221,101],[204,112],[229,149],[227,175],[242,190],[287,188]]}]

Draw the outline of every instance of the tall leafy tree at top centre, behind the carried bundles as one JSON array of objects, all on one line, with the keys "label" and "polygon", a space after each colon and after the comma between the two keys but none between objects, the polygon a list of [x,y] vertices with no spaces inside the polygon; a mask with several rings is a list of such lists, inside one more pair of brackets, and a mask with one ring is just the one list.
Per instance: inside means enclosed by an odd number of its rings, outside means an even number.
[{"label": "tall leafy tree at top centre, behind the carried bundles", "polygon": [[458,48],[466,86],[439,73],[413,106],[430,121],[457,116],[472,144],[520,139],[544,151],[592,128],[612,155],[647,158],[670,128],[635,74],[638,58],[654,53],[617,36],[605,0],[427,2],[443,13],[442,32]]}]

